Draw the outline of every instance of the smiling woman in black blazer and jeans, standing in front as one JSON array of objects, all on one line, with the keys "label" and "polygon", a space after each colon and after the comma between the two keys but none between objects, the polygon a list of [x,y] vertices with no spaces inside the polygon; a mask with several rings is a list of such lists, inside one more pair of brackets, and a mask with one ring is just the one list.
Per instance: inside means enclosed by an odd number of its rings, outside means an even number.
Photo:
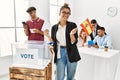
[{"label": "smiling woman in black blazer and jeans, standing in front", "polygon": [[54,42],[54,62],[56,63],[56,80],[64,80],[67,68],[67,80],[73,80],[76,72],[77,62],[81,59],[77,49],[77,26],[69,22],[71,14],[68,4],[60,8],[60,20],[52,27],[51,38],[47,32],[45,35]]}]

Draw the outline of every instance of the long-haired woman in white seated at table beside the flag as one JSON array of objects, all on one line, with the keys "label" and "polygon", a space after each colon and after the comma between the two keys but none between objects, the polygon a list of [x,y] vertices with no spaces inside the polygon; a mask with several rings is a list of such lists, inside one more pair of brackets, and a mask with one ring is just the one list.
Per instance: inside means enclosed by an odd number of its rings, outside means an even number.
[{"label": "long-haired woman in white seated at table beside the flag", "polygon": [[90,36],[88,36],[86,34],[86,32],[83,29],[81,29],[81,31],[78,35],[78,46],[82,46],[82,47],[87,46],[88,41],[90,41],[90,40],[91,40]]}]

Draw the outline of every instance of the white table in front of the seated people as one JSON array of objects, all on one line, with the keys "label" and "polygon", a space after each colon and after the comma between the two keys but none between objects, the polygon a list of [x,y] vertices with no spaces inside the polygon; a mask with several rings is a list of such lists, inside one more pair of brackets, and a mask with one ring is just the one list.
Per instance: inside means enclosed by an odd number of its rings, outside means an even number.
[{"label": "white table in front of the seated people", "polygon": [[76,80],[115,80],[119,51],[78,47],[81,61],[78,62]]}]

